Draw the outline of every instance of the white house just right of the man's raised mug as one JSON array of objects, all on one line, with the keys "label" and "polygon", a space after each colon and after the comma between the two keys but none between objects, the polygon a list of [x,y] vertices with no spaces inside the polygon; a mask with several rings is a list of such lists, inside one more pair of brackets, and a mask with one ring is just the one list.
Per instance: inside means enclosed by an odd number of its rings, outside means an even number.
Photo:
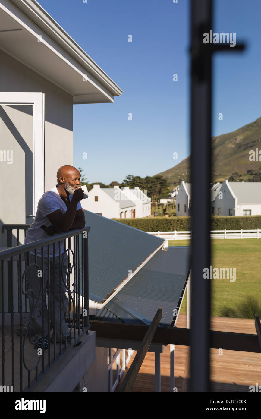
[{"label": "white house just right of the man's raised mug", "polygon": [[119,189],[93,185],[89,197],[81,201],[83,209],[106,218],[135,218],[136,204]]}]

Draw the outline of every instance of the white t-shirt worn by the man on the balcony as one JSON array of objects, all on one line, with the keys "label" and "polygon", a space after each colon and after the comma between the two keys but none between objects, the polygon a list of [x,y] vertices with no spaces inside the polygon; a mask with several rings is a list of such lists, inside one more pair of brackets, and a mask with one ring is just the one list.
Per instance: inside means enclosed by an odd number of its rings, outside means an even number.
[{"label": "white t-shirt worn by the man on the balcony", "polygon": [[[57,185],[56,185],[57,186]],[[54,238],[53,236],[49,236],[47,233],[44,233],[44,230],[41,228],[41,225],[46,225],[49,227],[52,223],[48,220],[47,215],[51,214],[52,212],[56,211],[57,209],[61,209],[62,213],[64,214],[67,211],[67,206],[65,202],[59,195],[57,187],[54,186],[49,191],[45,192],[42,197],[39,199],[37,205],[37,211],[34,218],[34,221],[30,225],[26,233],[26,238],[24,239],[23,243],[30,243],[31,241],[41,240],[42,238]],[[72,194],[69,195],[69,201],[72,199]],[[80,201],[77,204],[77,209],[81,209]],[[44,256],[47,257],[47,246],[43,247]],[[64,252],[64,241],[61,241],[61,253]],[[34,255],[34,251],[30,251],[29,253]],[[49,255],[53,257],[53,244],[49,245]],[[37,249],[37,256],[41,256],[41,248]],[[59,242],[55,243],[55,256],[59,256]]]}]

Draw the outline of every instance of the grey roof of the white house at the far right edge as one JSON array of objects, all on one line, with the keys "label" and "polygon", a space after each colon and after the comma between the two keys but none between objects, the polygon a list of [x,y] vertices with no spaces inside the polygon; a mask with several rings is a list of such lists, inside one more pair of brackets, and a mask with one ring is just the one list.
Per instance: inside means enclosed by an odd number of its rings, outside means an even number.
[{"label": "grey roof of the white house at the far right edge", "polygon": [[261,182],[228,182],[238,204],[261,204]]}]

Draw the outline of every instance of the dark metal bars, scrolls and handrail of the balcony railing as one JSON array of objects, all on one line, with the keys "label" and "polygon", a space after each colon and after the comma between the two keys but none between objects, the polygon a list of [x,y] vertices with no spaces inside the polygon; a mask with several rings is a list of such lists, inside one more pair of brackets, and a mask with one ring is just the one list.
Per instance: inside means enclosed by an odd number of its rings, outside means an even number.
[{"label": "dark metal bars, scrolls and handrail of the balcony railing", "polygon": [[[10,239],[12,238],[12,230],[22,230],[24,228],[29,228],[30,225],[14,225],[14,224],[4,224],[2,226],[2,231],[7,230],[7,234],[8,234],[8,247],[5,248],[5,250],[1,250],[0,251],[0,303],[2,306],[2,343],[1,343],[1,363],[2,363],[2,385],[5,385],[5,371],[6,370],[10,370],[11,371],[11,375],[12,375],[12,385],[16,386],[16,389],[18,389],[20,387],[20,391],[32,391],[37,383],[39,383],[39,381],[43,378],[44,374],[52,367],[52,365],[59,359],[59,357],[61,357],[63,355],[63,353],[65,351],[67,351],[67,349],[70,348],[70,346],[72,345],[71,339],[72,336],[70,336],[70,342],[67,341],[67,339],[65,339],[65,348],[62,349],[62,343],[63,343],[63,336],[62,336],[62,328],[61,328],[61,324],[60,327],[59,325],[55,325],[54,324],[54,319],[56,319],[58,313],[60,312],[60,323],[61,323],[61,319],[63,318],[63,313],[65,313],[66,310],[63,310],[62,308],[62,291],[61,291],[61,286],[63,284],[62,281],[62,275],[59,274],[59,278],[56,278],[56,274],[57,271],[59,271],[59,273],[63,272],[65,268],[65,264],[63,264],[64,266],[61,266],[61,242],[64,243],[64,248],[67,249],[67,251],[72,252],[72,263],[70,261],[70,256],[68,254],[68,269],[67,269],[67,278],[65,279],[66,282],[66,287],[67,287],[67,291],[70,297],[69,300],[69,311],[70,311],[70,305],[73,303],[74,306],[74,311],[73,311],[73,321],[72,323],[70,322],[70,318],[69,318],[69,326],[71,326],[70,329],[70,335],[72,333],[72,328],[73,328],[73,338],[76,339],[76,334],[75,334],[75,328],[76,328],[76,323],[75,323],[75,299],[76,296],[74,295],[73,299],[71,296],[71,291],[70,291],[70,273],[71,269],[75,269],[74,271],[74,283],[73,283],[73,287],[75,287],[75,282],[77,282],[77,301],[78,301],[78,319],[79,319],[79,324],[78,324],[78,337],[80,338],[81,336],[83,336],[83,334],[87,331],[88,328],[90,328],[89,325],[89,310],[88,310],[88,302],[89,302],[89,296],[88,296],[88,231],[90,230],[89,226],[85,226],[85,228],[83,229],[77,229],[77,230],[71,230],[70,232],[67,233],[59,233],[57,235],[55,235],[54,237],[50,237],[50,238],[44,238],[44,239],[40,239],[34,242],[30,242],[30,243],[26,243],[26,244],[18,244],[17,246],[12,247],[13,242],[10,242]],[[80,264],[80,260],[79,260],[79,236],[83,234],[82,236],[82,263]],[[76,237],[77,237],[77,246],[76,246]],[[73,241],[75,243],[75,246],[72,250],[71,248],[71,238],[73,238]],[[68,246],[66,246],[66,241],[68,239]],[[18,240],[19,243],[19,240]],[[59,243],[59,260],[56,261],[55,260],[55,243]],[[53,246],[53,264],[50,258],[50,245]],[[47,246],[47,256],[44,256],[44,247]],[[37,257],[37,249],[41,249],[41,256]],[[34,252],[34,256],[31,257],[29,252]],[[75,252],[75,253],[74,253]],[[18,256],[18,258],[17,258]],[[24,257],[24,261],[25,261],[25,269],[22,269],[22,256]],[[30,258],[29,258],[30,256]],[[77,259],[78,256],[78,261],[75,264],[75,261]],[[46,257],[46,269],[45,267],[45,262],[44,262],[44,258]],[[8,260],[10,259],[10,260]],[[18,260],[17,260],[18,259]],[[14,261],[18,262],[18,270],[17,270],[17,282],[16,279],[13,278],[13,263]],[[41,262],[40,262],[41,261]],[[34,262],[34,263],[33,263]],[[4,264],[9,265],[9,271],[8,271],[8,284],[7,284],[7,290],[4,289],[5,286],[5,282],[4,282]],[[38,264],[37,264],[38,263]],[[50,265],[51,264],[51,265]],[[59,270],[58,270],[58,265],[59,264]],[[80,265],[81,265],[81,284],[80,284]],[[41,269],[40,269],[41,268]],[[38,274],[38,270],[41,270],[41,274],[42,274],[42,282],[47,282],[47,284],[45,285],[42,284],[39,290],[39,293],[33,292],[32,290],[32,285],[34,282],[34,279],[36,279],[36,273]],[[22,272],[23,271],[23,272]],[[36,273],[35,273],[36,271]],[[44,272],[45,271],[45,272]],[[78,274],[78,278],[77,278],[77,274]],[[58,275],[58,274],[57,274]],[[26,281],[26,277],[28,276],[28,283]],[[53,280],[51,278],[51,276],[53,277]],[[33,278],[33,281],[31,280]],[[44,280],[45,278],[45,280]],[[80,286],[81,285],[81,286]],[[60,293],[58,292],[58,299],[59,299],[59,294],[60,294],[60,302],[59,302],[59,307],[54,307],[54,298],[56,295],[56,290],[57,288],[59,288]],[[82,289],[82,292],[81,292]],[[46,306],[46,291],[48,293],[48,307]],[[6,295],[9,295],[9,299],[6,301]],[[17,293],[17,295],[15,294],[15,292]],[[75,292],[75,289],[74,291]],[[29,293],[29,294],[28,294]],[[33,306],[30,307],[30,312],[28,312],[28,310],[26,309],[26,301],[28,298],[28,295],[34,295],[34,304]],[[39,296],[39,298],[37,298]],[[14,298],[17,298],[17,300],[14,300]],[[80,330],[80,298],[82,298],[82,307],[83,310],[86,309],[86,315],[83,316],[83,322],[82,322],[82,328]],[[37,300],[38,303],[37,303]],[[18,309],[18,313],[20,314],[20,327],[19,327],[19,334],[20,334],[20,380],[18,379],[18,377],[16,377],[16,382],[14,383],[14,373],[16,371],[16,365],[15,365],[15,359],[19,359],[19,355],[16,354],[16,346],[18,349],[18,344],[16,345],[16,337],[15,337],[15,333],[14,333],[14,326],[16,326],[15,324],[15,318],[14,318],[14,303],[17,305],[18,304],[18,308],[16,308],[16,310]],[[5,304],[8,306],[8,311],[5,308]],[[38,305],[39,308],[37,309]],[[37,310],[36,310],[37,309]],[[47,316],[44,315],[44,312],[47,312]],[[11,359],[9,360],[8,357],[8,363],[5,360],[5,312],[8,312],[8,314],[11,314],[11,346],[12,346],[12,353],[11,353]],[[27,313],[28,317],[26,316],[26,321],[25,323],[23,322],[23,314]],[[84,313],[85,314],[85,313]],[[39,359],[36,363],[36,365],[34,365],[33,367],[28,367],[27,362],[28,360],[30,360],[31,362],[31,358],[30,358],[30,354],[25,352],[25,349],[27,350],[30,347],[30,344],[35,344],[35,349],[37,349],[37,342],[35,341],[35,339],[31,339],[31,321],[32,319],[35,320],[35,316],[40,316],[40,323],[41,323],[41,329],[42,331],[39,333],[39,337],[42,339],[42,349],[44,346],[44,329],[48,328],[48,336],[49,336],[49,346],[48,346],[48,354],[44,353],[44,350],[41,352],[41,354],[39,353]],[[69,316],[70,317],[70,316]],[[46,324],[46,322],[48,324]],[[50,332],[51,332],[51,323],[53,326],[53,336],[52,336],[52,340],[50,339]],[[26,326],[26,327],[25,327]],[[87,332],[88,333],[88,332]],[[31,335],[31,336],[30,336]],[[59,353],[56,353],[56,346],[55,346],[55,342],[56,342],[56,337],[60,336],[60,342],[59,342]],[[28,339],[26,339],[27,337],[29,337],[29,341]],[[51,341],[54,342],[54,351],[53,353],[51,353]],[[39,345],[41,346],[41,345]],[[31,350],[31,349],[30,349]],[[37,353],[38,354],[38,353]],[[48,360],[46,360],[47,362],[44,362],[44,355],[45,357],[48,356]],[[52,357],[51,357],[52,355]],[[37,357],[38,358],[38,357]],[[52,358],[52,359],[51,359]],[[38,368],[40,363],[42,363],[42,370],[39,373],[38,372]],[[35,371],[35,376],[33,377],[32,375],[34,375],[34,371]],[[28,380],[25,380],[26,378],[26,374],[28,375]],[[27,385],[24,388],[24,384],[25,381],[27,381]]]}]

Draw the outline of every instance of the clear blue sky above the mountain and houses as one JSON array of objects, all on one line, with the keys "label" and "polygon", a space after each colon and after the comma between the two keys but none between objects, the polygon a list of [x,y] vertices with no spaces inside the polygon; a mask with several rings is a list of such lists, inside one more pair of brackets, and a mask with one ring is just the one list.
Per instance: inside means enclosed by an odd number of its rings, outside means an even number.
[{"label": "clear blue sky above the mountain and houses", "polygon": [[[153,176],[186,158],[189,1],[39,3],[123,90],[114,103],[74,105],[73,164],[84,169],[88,181],[109,184],[127,174]],[[261,2],[215,3],[213,31],[235,32],[236,42],[248,46],[243,53],[218,53],[213,59],[212,135],[217,136],[261,116]]]}]

